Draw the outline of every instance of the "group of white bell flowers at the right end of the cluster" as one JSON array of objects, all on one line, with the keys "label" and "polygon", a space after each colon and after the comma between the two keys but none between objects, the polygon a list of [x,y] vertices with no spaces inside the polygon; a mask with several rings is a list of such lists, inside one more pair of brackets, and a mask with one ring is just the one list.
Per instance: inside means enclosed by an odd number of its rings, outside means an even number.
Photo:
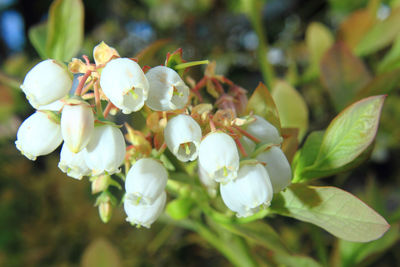
[{"label": "group of white bell flowers at the right end of the cluster", "polygon": [[[214,192],[219,182],[222,200],[238,217],[253,215],[261,206],[268,207],[273,193],[290,184],[291,168],[280,149],[282,138],[277,129],[265,119],[254,116],[246,131],[261,142],[263,148],[254,155],[256,163],[240,167],[239,153],[231,136],[211,132],[200,144],[200,181]],[[248,154],[256,151],[256,144],[242,137]]]}]

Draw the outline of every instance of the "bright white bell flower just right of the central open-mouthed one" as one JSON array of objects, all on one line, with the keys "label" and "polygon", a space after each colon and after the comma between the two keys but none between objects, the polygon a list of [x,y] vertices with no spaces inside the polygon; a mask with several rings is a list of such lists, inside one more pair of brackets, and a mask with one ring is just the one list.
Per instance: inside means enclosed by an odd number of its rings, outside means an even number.
[{"label": "bright white bell flower just right of the central open-mouthed one", "polygon": [[239,153],[233,138],[222,132],[208,134],[200,143],[199,164],[217,182],[235,179]]}]

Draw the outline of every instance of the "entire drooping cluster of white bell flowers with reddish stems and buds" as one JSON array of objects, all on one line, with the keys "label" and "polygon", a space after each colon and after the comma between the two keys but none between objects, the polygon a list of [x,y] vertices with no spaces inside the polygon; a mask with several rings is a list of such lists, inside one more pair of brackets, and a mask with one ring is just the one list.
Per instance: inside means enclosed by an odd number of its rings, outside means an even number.
[{"label": "entire drooping cluster of white bell flowers with reddish stems and buds", "polygon": [[[219,183],[224,203],[239,217],[269,206],[273,193],[291,180],[278,130],[256,115],[237,117],[246,91],[210,68],[197,84],[188,78],[189,88],[184,70],[205,62],[185,62],[181,52],[168,54],[162,66],[141,67],[102,42],[93,51],[95,63],[87,56],[72,59],[68,68],[52,59],[40,62],[21,85],[37,111],[20,126],[17,148],[35,160],[64,142],[58,167],[75,179],[91,177],[92,192],[101,193],[97,205],[104,222],[117,203],[109,187],[122,190],[122,183],[128,222],[150,227],[160,216],[169,179],[160,155],[167,148],[181,162],[198,163],[200,182],[211,195]],[[76,88],[73,77],[79,80]],[[227,93],[223,85],[229,86]],[[203,103],[203,87],[218,98],[218,110]],[[107,119],[118,110],[141,112],[147,129],[125,124],[124,137]]]}]

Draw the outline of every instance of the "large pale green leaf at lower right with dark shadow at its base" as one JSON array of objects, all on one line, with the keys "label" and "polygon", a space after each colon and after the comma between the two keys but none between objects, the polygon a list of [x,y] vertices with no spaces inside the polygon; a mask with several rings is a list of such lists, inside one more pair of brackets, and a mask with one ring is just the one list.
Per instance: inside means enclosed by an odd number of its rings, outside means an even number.
[{"label": "large pale green leaf at lower right with dark shadow at its base", "polygon": [[292,184],[274,196],[271,210],[313,223],[338,238],[352,242],[378,239],[390,227],[364,202],[336,187]]}]

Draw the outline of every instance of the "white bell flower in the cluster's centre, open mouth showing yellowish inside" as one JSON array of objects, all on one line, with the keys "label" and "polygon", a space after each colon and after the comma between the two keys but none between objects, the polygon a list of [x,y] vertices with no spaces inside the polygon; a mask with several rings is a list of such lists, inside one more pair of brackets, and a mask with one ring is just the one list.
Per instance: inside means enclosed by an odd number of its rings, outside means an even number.
[{"label": "white bell flower in the cluster's centre, open mouth showing yellowish inside", "polygon": [[189,115],[180,114],[168,121],[164,129],[169,150],[183,162],[195,160],[201,141],[200,125]]}]

